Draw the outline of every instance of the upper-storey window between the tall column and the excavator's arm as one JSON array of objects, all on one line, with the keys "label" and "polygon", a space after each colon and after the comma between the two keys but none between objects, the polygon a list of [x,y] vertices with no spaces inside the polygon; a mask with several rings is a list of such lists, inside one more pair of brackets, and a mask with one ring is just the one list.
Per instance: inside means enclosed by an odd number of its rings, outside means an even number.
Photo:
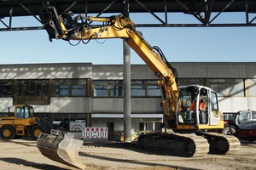
[{"label": "upper-storey window between the tall column and the excavator's arm", "polygon": [[131,97],[160,97],[160,95],[156,80],[131,81]]}]

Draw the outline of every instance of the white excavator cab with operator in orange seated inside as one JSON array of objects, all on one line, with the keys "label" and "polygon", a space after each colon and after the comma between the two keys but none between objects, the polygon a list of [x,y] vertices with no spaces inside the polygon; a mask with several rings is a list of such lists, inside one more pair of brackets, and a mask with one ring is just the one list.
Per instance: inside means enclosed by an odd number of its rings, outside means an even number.
[{"label": "white excavator cab with operator in orange seated inside", "polygon": [[220,118],[215,91],[200,85],[179,87],[177,129],[223,128]]}]

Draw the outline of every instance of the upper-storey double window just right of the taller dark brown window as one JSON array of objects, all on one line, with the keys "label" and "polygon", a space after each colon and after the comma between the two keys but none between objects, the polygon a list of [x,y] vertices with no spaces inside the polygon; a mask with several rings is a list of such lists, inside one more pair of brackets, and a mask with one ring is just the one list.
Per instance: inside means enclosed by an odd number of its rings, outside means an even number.
[{"label": "upper-storey double window just right of the taller dark brown window", "polygon": [[86,96],[85,79],[53,80],[53,96]]}]

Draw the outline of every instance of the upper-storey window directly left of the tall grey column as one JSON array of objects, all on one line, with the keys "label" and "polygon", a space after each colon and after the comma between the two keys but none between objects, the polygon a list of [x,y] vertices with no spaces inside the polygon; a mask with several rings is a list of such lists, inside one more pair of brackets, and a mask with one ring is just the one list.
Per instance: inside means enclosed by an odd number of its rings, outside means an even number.
[{"label": "upper-storey window directly left of the tall grey column", "polygon": [[94,97],[123,97],[124,83],[122,80],[93,81]]}]

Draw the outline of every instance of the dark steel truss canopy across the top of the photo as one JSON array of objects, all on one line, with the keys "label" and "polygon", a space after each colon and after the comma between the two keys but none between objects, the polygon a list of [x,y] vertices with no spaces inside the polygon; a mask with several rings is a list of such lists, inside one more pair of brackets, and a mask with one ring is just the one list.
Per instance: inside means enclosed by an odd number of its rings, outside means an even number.
[{"label": "dark steel truss canopy across the top of the photo", "polygon": [[[129,14],[148,13],[157,23],[137,23],[138,27],[196,27],[196,26],[256,26],[256,1],[254,0],[2,0],[0,1],[0,31],[41,30],[44,27],[38,17],[44,4],[55,5],[60,14],[69,10],[74,14],[104,13]],[[128,5],[127,5],[128,4]],[[241,13],[244,20],[218,23],[223,14]],[[188,22],[174,23],[172,14],[191,16]],[[13,26],[14,17],[32,16],[38,20],[37,26]],[[234,17],[236,17],[234,15]],[[196,20],[195,20],[196,19]],[[178,20],[178,19],[177,19]]]}]

